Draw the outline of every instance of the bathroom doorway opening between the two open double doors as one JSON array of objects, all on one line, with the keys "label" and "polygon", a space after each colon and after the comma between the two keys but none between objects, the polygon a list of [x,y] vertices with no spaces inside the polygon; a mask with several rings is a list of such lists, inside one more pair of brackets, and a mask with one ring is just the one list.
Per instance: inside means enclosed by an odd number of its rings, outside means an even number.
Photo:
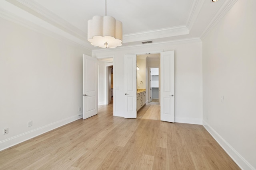
[{"label": "bathroom doorway opening between the two open double doors", "polygon": [[146,104],[137,110],[138,118],[160,120],[159,71],[160,53],[137,55],[137,90],[146,90]]}]

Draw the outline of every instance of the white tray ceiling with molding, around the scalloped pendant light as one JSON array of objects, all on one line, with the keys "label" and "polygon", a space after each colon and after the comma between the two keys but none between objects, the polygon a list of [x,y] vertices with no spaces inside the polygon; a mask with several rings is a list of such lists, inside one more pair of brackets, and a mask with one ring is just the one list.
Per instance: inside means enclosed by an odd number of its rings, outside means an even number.
[{"label": "white tray ceiling with molding, around the scalloped pendant light", "polygon": [[[107,0],[107,15],[123,23],[123,45],[201,38],[232,0]],[[105,16],[105,0],[2,0],[0,16],[89,50],[87,21]],[[120,47],[118,47],[120,48]]]}]

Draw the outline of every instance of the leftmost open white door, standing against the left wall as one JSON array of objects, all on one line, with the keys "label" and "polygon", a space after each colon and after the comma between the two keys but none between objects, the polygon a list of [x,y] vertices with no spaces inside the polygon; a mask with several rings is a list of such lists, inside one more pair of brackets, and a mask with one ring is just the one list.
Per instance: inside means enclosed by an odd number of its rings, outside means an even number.
[{"label": "leftmost open white door, standing against the left wall", "polygon": [[97,59],[83,55],[84,119],[98,114]]}]

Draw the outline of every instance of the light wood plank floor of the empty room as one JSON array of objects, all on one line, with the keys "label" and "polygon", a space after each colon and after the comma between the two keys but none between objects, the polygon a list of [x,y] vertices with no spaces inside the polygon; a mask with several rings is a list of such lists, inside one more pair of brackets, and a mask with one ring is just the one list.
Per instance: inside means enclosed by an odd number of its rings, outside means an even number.
[{"label": "light wood plank floor of the empty room", "polygon": [[[153,107],[152,107],[153,106]],[[144,114],[159,111],[144,106]],[[238,170],[202,125],[113,117],[112,105],[0,152],[1,170]],[[139,115],[139,114],[138,114]],[[149,116],[150,117],[150,116]],[[158,118],[157,118],[158,119]]]}]

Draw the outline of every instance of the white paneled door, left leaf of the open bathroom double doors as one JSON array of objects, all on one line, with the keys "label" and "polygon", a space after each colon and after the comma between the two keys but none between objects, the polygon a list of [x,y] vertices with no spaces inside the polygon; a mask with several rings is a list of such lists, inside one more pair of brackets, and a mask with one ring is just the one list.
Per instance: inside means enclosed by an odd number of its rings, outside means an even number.
[{"label": "white paneled door, left leaf of the open bathroom double doors", "polygon": [[136,55],[124,55],[125,118],[137,117]]}]

